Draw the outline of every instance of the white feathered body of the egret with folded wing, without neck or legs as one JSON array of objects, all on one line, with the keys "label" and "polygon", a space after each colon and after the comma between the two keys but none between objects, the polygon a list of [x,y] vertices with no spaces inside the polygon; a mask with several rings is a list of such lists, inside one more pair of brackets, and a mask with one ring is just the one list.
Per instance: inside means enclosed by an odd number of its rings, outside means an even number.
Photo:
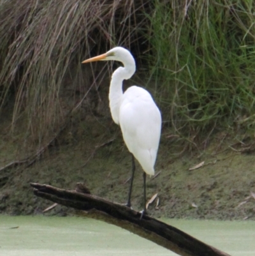
[{"label": "white feathered body of the egret with folded wing, without neck or legs", "polygon": [[161,114],[148,91],[138,86],[129,87],[120,102],[119,123],[129,151],[143,170],[153,175],[161,133]]}]

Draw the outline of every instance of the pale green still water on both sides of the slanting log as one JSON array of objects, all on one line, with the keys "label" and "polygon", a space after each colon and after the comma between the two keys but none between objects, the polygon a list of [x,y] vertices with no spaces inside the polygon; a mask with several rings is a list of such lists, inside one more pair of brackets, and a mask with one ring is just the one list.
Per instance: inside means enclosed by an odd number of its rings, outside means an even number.
[{"label": "pale green still water on both sides of the slanting log", "polygon": [[[255,222],[165,220],[232,256],[255,255]],[[0,255],[176,255],[113,225],[86,218],[0,216]]]}]

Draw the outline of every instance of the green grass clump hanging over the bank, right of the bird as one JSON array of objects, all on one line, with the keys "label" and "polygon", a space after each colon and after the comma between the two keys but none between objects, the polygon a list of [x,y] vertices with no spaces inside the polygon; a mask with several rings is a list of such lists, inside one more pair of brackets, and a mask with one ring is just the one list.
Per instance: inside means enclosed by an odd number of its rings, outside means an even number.
[{"label": "green grass clump hanging over the bank, right of the bird", "polygon": [[152,13],[150,81],[175,132],[208,134],[254,114],[252,1],[156,0]]}]

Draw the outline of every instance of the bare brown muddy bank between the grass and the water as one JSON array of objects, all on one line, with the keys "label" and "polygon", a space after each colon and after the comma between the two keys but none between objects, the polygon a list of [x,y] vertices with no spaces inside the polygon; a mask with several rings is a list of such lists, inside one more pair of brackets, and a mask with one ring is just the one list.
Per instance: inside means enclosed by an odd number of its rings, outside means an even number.
[{"label": "bare brown muddy bank between the grass and the water", "polygon": [[[156,163],[156,177],[147,179],[147,197],[158,194],[149,206],[150,215],[169,218],[219,220],[255,220],[255,156],[241,153],[224,141],[219,146],[215,135],[205,151],[181,152],[182,146],[169,139],[164,128]],[[25,151],[15,140],[2,135],[1,167],[20,160],[33,151]],[[189,170],[205,162],[202,167]],[[110,117],[93,116],[70,124],[31,166],[25,164],[0,172],[0,213],[8,215],[42,214],[51,202],[34,197],[29,183],[46,183],[73,189],[85,182],[91,192],[126,202],[131,176],[131,156],[119,127]],[[142,209],[142,170],[135,174],[132,203]],[[46,215],[71,215],[73,210],[57,206]]]}]

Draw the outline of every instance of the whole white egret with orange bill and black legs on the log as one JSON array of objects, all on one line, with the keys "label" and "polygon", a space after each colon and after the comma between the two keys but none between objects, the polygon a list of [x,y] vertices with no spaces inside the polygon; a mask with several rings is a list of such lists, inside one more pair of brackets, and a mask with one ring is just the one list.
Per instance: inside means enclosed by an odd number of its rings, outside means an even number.
[{"label": "whole white egret with orange bill and black legs on the log", "polygon": [[105,54],[92,57],[82,63],[92,61],[120,61],[124,65],[124,67],[117,68],[112,74],[109,92],[110,111],[113,121],[120,125],[124,142],[132,154],[132,176],[127,206],[131,207],[135,156],[144,170],[143,213],[146,213],[146,174],[154,175],[161,134],[161,113],[150,93],[142,87],[131,86],[123,93],[123,80],[130,79],[136,70],[135,59],[128,50],[115,47]]}]

